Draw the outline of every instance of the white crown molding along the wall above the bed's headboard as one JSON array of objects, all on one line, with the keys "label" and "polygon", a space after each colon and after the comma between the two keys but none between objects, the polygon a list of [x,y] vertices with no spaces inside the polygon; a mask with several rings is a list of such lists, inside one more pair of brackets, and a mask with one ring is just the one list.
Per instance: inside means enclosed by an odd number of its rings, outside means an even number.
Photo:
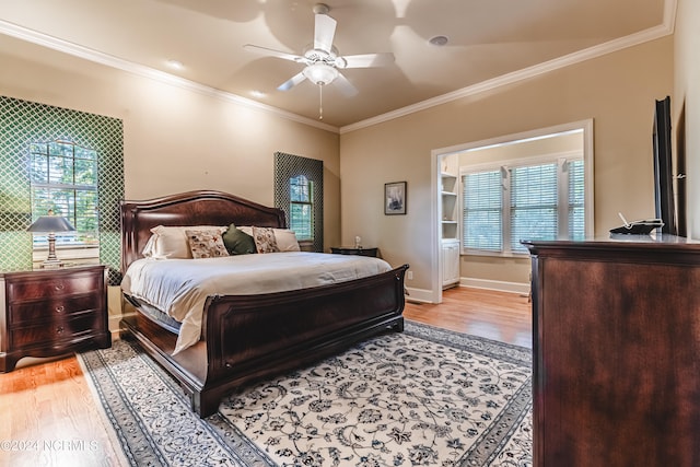
[{"label": "white crown molding along the wall above the bed's headboard", "polygon": [[300,124],[308,125],[319,128],[322,130],[331,131],[337,133],[338,127],[324,124],[317,120],[313,120],[301,115],[293,114],[291,112],[282,110],[271,105],[261,104],[259,102],[241,97],[240,95],[224,92],[211,86],[197,83],[195,81],[186,80],[180,77],[176,77],[164,71],[156,70],[154,68],[145,67],[135,63],[132,61],[124,60],[121,58],[103,54],[101,51],[83,47],[81,45],[70,43],[68,40],[59,39],[57,37],[49,36],[37,31],[28,30],[26,27],[19,26],[13,23],[0,20],[0,34],[15,37],[18,39],[26,40],[43,47],[47,47],[63,54],[72,55],[95,63],[104,65],[110,68],[116,68],[121,71],[126,71],[131,74],[136,74],[150,80],[159,81],[165,84],[171,84],[180,87],[186,91],[195,92],[210,97],[220,98],[223,101],[232,102],[245,107],[262,110],[268,114],[272,114],[277,117],[287,118],[289,120],[298,121]]}]

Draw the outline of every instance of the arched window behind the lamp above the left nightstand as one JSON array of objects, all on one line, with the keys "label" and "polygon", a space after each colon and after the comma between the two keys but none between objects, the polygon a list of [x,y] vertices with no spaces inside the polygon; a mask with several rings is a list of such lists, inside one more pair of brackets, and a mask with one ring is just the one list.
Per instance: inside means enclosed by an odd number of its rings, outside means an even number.
[{"label": "arched window behind the lamp above the left nightstand", "polygon": [[[52,211],[75,232],[56,235],[57,246],[97,246],[97,153],[69,141],[30,144],[32,221]],[[34,235],[45,247],[46,235]]]}]

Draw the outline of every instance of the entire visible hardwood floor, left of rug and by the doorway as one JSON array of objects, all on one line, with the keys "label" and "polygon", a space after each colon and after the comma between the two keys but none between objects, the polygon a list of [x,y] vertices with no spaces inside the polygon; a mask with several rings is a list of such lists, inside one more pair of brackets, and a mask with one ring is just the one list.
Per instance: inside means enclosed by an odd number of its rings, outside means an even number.
[{"label": "entire visible hardwood floor, left of rug and by the doorway", "polygon": [[[404,316],[532,348],[530,304],[517,294],[455,288],[440,305],[407,303]],[[120,465],[75,357],[19,366],[0,374],[0,466]]]}]

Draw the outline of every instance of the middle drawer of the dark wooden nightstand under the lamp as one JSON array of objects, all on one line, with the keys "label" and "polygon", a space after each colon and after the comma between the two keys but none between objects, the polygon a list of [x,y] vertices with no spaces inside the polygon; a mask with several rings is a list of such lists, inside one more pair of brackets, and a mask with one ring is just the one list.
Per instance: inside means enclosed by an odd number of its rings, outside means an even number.
[{"label": "middle drawer of the dark wooden nightstand under the lamp", "polygon": [[9,306],[9,325],[16,327],[26,323],[60,320],[102,305],[101,295],[95,293],[57,297],[52,300],[11,303]]}]

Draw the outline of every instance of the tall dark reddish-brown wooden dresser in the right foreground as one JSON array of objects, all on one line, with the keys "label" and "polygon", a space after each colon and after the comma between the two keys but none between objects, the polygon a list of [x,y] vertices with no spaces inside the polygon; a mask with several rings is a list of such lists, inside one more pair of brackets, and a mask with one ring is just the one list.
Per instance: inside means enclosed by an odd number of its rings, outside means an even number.
[{"label": "tall dark reddish-brown wooden dresser in the right foreground", "polygon": [[534,466],[699,466],[700,244],[525,245]]}]

